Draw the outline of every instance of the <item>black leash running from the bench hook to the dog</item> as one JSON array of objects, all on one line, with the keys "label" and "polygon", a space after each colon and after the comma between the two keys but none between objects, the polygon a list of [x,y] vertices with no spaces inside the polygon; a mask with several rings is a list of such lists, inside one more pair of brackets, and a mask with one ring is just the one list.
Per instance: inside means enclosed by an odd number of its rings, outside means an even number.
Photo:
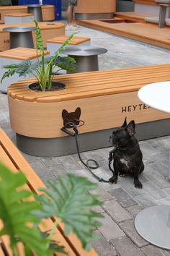
[{"label": "black leash running from the bench hook to the dog", "polygon": [[[80,121],[81,121],[81,120],[80,120]],[[66,127],[68,127],[68,125],[73,127],[73,131],[74,131],[74,132],[71,132],[71,131],[69,131],[69,130],[66,128]],[[81,124],[81,125],[82,125],[82,124]],[[109,183],[109,181],[107,181],[107,180],[105,180],[105,179],[103,179],[103,178],[100,178],[99,176],[97,176],[96,174],[94,174],[93,171],[91,171],[91,169],[95,170],[95,169],[99,168],[99,163],[97,163],[96,160],[94,160],[94,159],[88,159],[88,160],[86,161],[86,163],[84,163],[84,161],[82,160],[81,155],[80,155],[80,150],[79,150],[79,142],[78,142],[78,138],[77,138],[77,135],[79,134],[78,129],[77,129],[78,126],[80,126],[80,125],[76,125],[76,124],[74,124],[73,122],[68,122],[67,124],[64,125],[64,127],[61,128],[61,130],[62,130],[63,132],[65,132],[66,134],[68,134],[68,135],[70,135],[70,136],[72,136],[72,137],[75,137],[76,149],[77,149],[77,153],[78,153],[78,155],[79,155],[79,159],[80,159],[81,163],[83,163],[84,166],[86,166],[86,168],[88,168],[88,170],[90,171],[90,173],[91,173],[99,182],[106,182],[106,183]],[[113,151],[114,151],[114,150],[111,150],[111,151],[109,152],[109,170],[112,171],[112,173],[114,174],[114,171],[113,171],[112,168],[111,168],[111,163],[112,163],[112,160],[113,160]],[[94,166],[90,166],[89,162],[94,163]]]}]

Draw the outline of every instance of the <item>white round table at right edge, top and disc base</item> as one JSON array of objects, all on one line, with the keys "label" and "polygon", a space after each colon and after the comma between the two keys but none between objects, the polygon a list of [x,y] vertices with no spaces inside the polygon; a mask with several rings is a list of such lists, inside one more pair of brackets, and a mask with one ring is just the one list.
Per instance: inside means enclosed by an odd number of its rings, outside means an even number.
[{"label": "white round table at right edge, top and disc base", "polygon": [[[143,86],[138,98],[151,108],[170,113],[170,81]],[[135,229],[151,244],[170,249],[170,206],[156,205],[142,210],[135,217]]]}]

